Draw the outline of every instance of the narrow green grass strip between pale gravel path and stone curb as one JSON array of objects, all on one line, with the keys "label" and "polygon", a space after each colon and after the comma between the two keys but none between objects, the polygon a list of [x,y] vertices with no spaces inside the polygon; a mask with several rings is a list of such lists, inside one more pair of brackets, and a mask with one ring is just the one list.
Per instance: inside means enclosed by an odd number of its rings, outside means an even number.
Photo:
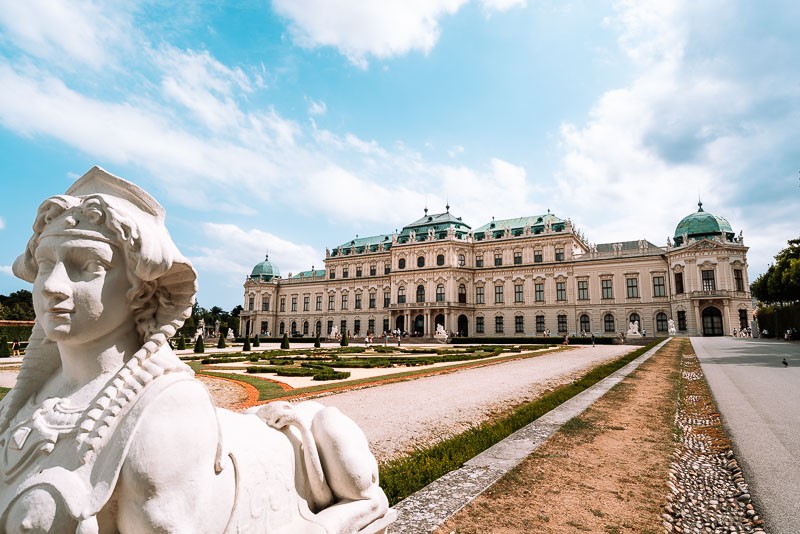
[{"label": "narrow green grass strip between pale gravel path and stone curb", "polygon": [[470,458],[593,386],[661,341],[655,340],[614,361],[599,365],[571,384],[560,386],[535,401],[523,404],[498,420],[477,425],[430,447],[417,449],[408,456],[381,464],[380,483],[389,502],[394,505],[461,467]]}]

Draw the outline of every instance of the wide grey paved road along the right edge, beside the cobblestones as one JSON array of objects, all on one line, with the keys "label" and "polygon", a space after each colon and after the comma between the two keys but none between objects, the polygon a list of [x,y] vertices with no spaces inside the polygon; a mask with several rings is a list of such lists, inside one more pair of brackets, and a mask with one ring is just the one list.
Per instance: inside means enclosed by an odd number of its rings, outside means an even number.
[{"label": "wide grey paved road along the right edge, beside the cobblestones", "polygon": [[692,338],[692,345],[767,531],[800,532],[800,344]]}]

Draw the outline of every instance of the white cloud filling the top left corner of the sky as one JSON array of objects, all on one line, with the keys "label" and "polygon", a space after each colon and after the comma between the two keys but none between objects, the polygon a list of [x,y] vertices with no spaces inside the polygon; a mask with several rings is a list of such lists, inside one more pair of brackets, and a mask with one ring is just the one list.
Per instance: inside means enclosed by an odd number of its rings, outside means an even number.
[{"label": "white cloud filling the top left corner of the sky", "polygon": [[0,0],[0,27],[29,54],[94,69],[113,63],[110,48],[130,33],[124,3],[88,0]]}]

